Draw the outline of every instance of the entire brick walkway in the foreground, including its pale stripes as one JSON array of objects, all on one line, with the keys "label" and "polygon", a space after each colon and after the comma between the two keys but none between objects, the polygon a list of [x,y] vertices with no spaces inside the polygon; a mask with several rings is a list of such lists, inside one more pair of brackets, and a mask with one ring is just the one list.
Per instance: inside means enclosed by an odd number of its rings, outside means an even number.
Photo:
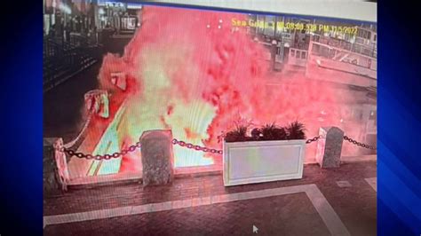
[{"label": "entire brick walkway in the foreground, including its pale stripes", "polygon": [[44,201],[44,234],[376,235],[376,175],[376,161],[362,161],[257,185],[215,175],[74,189]]}]

